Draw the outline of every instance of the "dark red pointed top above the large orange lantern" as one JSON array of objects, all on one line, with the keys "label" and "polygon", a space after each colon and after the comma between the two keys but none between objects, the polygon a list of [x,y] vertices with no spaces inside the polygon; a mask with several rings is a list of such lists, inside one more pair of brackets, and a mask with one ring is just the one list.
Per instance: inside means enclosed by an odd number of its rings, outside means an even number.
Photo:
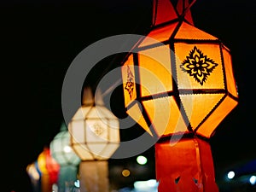
[{"label": "dark red pointed top above the large orange lantern", "polygon": [[176,7],[174,7],[172,0],[154,0],[152,26],[164,25],[179,18],[183,18],[194,26],[190,8],[195,1],[178,0]]}]

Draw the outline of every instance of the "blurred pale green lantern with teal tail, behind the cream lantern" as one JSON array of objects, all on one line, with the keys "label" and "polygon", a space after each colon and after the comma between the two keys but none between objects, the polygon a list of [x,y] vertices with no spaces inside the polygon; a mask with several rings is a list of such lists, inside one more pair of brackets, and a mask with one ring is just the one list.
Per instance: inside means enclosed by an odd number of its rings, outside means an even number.
[{"label": "blurred pale green lantern with teal tail, behind the cream lantern", "polygon": [[61,170],[58,177],[58,191],[65,192],[73,189],[78,180],[79,156],[70,144],[70,134],[67,125],[62,122],[60,132],[49,143],[50,154],[59,163]]}]

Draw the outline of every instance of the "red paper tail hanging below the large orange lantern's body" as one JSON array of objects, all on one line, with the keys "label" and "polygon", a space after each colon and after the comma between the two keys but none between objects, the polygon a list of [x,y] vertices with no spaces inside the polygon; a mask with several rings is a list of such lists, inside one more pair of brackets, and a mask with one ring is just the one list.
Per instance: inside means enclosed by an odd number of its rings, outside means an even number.
[{"label": "red paper tail hanging below the large orange lantern's body", "polygon": [[210,144],[199,138],[155,144],[159,192],[218,192]]}]

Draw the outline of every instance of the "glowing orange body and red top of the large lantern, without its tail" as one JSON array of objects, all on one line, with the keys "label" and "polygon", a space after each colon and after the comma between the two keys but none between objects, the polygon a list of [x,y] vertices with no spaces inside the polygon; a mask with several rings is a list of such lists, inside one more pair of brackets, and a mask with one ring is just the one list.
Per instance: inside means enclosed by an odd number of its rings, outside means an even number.
[{"label": "glowing orange body and red top of the large lantern, without its tail", "polygon": [[168,0],[154,1],[151,31],[123,62],[125,108],[154,137],[195,132],[209,138],[238,103],[232,59],[218,38],[186,17],[188,1],[181,14],[182,2],[175,9]]}]

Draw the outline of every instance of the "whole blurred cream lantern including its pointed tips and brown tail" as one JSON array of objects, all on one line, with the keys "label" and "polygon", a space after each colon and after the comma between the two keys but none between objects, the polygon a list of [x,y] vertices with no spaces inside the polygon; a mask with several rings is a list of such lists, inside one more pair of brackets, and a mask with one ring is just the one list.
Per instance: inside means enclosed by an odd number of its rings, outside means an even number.
[{"label": "whole blurred cream lantern including its pointed tips and brown tail", "polygon": [[119,119],[104,106],[100,91],[84,88],[82,106],[68,124],[79,164],[81,191],[108,192],[108,159],[119,148]]}]

